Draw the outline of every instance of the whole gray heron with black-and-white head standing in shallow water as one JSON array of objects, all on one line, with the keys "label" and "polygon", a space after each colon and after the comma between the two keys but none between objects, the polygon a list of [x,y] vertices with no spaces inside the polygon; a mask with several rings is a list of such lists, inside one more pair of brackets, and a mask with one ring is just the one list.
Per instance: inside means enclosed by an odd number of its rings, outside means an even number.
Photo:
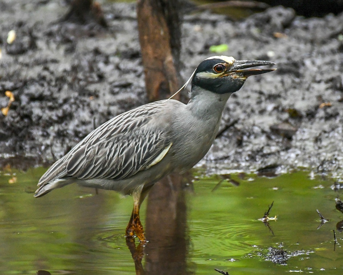
[{"label": "whole gray heron with black-and-white head standing in shallow water", "polygon": [[145,242],[139,208],[147,191],[172,171],[184,172],[209,151],[230,95],[250,75],[275,64],[213,56],[193,73],[187,105],[173,99],[149,103],[102,124],[40,178],[35,197],[76,182],[81,186],[133,195],[126,236]]}]

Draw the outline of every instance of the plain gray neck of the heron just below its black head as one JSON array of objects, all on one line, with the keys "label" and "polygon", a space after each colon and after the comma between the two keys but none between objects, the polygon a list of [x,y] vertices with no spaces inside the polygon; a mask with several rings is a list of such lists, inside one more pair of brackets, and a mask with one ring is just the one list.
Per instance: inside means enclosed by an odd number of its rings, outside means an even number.
[{"label": "plain gray neck of the heron just below its black head", "polygon": [[232,93],[216,94],[207,91],[199,86],[193,86],[191,91],[191,99],[186,108],[189,109],[194,116],[200,118],[218,118],[222,116],[226,101]]}]

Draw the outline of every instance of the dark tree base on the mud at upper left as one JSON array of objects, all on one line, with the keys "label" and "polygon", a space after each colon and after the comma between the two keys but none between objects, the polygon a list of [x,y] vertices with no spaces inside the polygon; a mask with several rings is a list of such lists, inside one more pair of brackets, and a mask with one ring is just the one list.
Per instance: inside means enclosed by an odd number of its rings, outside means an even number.
[{"label": "dark tree base on the mud at upper left", "polygon": [[71,9],[64,16],[65,21],[74,21],[81,24],[96,22],[97,24],[107,27],[103,11],[98,2],[92,0],[72,0]]}]

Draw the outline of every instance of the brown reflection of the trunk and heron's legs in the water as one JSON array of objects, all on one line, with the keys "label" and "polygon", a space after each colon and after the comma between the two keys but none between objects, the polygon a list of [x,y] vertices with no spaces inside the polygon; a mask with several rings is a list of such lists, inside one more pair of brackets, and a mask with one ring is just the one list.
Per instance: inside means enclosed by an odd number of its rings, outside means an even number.
[{"label": "brown reflection of the trunk and heron's legs in the water", "polygon": [[[187,274],[186,202],[181,175],[172,174],[155,184],[149,193],[146,210],[146,246],[137,247],[132,238],[127,246],[136,274]],[[145,270],[142,259],[146,255]],[[189,273],[188,273],[189,274]]]}]

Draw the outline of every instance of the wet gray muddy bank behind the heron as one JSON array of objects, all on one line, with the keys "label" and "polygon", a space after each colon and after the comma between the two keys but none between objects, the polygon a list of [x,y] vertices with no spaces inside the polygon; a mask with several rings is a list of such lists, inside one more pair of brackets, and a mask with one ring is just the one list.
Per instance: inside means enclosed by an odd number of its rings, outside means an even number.
[{"label": "wet gray muddy bank behind the heron", "polygon": [[[103,2],[108,29],[56,23],[62,1],[0,1],[0,156],[52,163],[87,133],[147,102],[135,5]],[[223,55],[277,63],[228,101],[222,134],[199,164],[277,172],[307,167],[343,178],[343,14],[295,16],[282,7],[233,22],[209,12],[185,15],[181,71],[186,80],[227,44]],[[7,44],[14,29],[16,39]],[[226,130],[225,130],[226,129]],[[18,160],[12,161],[18,165]]]}]

